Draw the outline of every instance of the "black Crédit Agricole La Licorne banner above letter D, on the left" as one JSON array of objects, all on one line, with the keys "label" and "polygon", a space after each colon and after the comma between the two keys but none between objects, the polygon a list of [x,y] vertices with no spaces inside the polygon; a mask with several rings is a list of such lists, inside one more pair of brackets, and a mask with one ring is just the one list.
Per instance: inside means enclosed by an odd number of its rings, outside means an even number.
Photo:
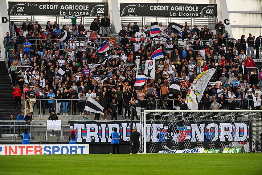
[{"label": "black Cr\u00e9dit Agricole La Licorne banner above letter D, on the left", "polygon": [[9,15],[68,16],[74,12],[83,16],[108,14],[108,3],[8,2]]}]

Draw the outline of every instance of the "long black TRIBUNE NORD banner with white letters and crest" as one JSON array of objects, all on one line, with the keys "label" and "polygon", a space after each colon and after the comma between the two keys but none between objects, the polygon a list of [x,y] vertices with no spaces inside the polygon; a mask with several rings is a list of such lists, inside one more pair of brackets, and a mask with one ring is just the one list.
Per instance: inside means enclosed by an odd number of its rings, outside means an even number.
[{"label": "long black TRIBUNE NORD banner with white letters and crest", "polygon": [[[111,144],[110,135],[114,132],[114,128],[120,132],[120,143],[129,143],[130,131],[137,127],[140,131],[140,123],[133,121],[133,127],[130,128],[130,121],[112,121],[112,122],[96,122],[96,121],[69,121],[70,133],[75,131],[78,143],[88,144]],[[164,123],[164,124],[163,124]],[[208,142],[205,140],[207,129],[212,135],[212,142],[247,142],[249,140],[249,121],[201,121],[200,123],[190,121],[188,124],[184,122],[155,122],[146,123],[146,141],[158,142],[157,134],[160,128],[166,133],[166,142]]]}]

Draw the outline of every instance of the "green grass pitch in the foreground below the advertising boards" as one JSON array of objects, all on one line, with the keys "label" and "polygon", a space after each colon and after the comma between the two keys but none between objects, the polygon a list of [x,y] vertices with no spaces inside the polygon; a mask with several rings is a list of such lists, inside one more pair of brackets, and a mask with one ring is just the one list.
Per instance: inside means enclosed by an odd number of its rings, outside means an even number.
[{"label": "green grass pitch in the foreground below the advertising boards", "polygon": [[262,174],[262,153],[0,156],[1,175]]}]

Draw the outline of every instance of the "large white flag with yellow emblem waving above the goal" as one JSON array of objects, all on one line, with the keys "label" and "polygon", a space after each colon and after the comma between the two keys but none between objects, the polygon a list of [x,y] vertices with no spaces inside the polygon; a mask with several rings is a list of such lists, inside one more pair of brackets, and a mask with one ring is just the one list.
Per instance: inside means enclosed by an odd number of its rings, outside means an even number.
[{"label": "large white flag with yellow emblem waving above the goal", "polygon": [[188,90],[185,103],[187,104],[188,109],[198,110],[198,104],[203,97],[203,93],[210,81],[211,77],[215,73],[216,68],[209,69],[203,73],[200,73],[196,77]]}]

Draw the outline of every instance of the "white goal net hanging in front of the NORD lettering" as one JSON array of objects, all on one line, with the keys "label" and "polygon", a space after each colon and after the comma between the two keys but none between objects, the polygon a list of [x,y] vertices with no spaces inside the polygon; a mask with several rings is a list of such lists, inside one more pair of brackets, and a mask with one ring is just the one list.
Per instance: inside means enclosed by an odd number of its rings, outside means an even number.
[{"label": "white goal net hanging in front of the NORD lettering", "polygon": [[139,116],[139,153],[262,151],[262,110],[144,110]]}]

